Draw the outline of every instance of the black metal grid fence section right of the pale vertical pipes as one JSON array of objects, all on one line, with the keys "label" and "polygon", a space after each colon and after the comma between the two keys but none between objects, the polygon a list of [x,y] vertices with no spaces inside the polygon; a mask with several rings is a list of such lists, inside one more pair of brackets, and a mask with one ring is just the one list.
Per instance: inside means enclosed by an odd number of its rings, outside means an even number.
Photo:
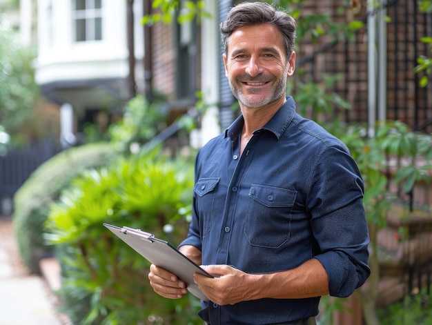
[{"label": "black metal grid fence section right of the pale vertical pipes", "polygon": [[389,118],[405,121],[415,130],[432,132],[432,80],[420,86],[424,72],[415,73],[418,57],[431,57],[432,14],[420,12],[418,0],[392,1],[387,9]]}]

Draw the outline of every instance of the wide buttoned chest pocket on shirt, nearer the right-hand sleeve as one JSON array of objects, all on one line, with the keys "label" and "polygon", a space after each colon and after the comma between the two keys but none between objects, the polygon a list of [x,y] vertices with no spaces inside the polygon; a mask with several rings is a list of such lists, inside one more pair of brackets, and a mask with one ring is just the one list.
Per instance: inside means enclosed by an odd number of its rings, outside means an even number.
[{"label": "wide buttoned chest pocket on shirt, nearer the right-hand sleeve", "polygon": [[244,225],[249,244],[278,248],[288,241],[296,196],[295,190],[252,184]]}]

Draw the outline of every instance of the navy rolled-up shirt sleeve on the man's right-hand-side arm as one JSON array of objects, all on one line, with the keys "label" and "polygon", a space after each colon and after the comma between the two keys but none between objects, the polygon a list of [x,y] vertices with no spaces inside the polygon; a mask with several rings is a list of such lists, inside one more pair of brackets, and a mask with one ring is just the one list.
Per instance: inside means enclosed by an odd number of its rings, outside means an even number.
[{"label": "navy rolled-up shirt sleeve on the man's right-hand-side arm", "polygon": [[308,209],[326,269],[330,295],[348,297],[369,277],[369,230],[363,206],[364,184],[343,146],[323,148],[311,175]]}]

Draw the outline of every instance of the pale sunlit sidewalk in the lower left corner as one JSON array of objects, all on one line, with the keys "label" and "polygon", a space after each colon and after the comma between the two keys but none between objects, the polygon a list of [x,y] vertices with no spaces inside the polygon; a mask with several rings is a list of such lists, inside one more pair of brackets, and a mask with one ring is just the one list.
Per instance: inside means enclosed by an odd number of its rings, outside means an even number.
[{"label": "pale sunlit sidewalk in the lower left corner", "polygon": [[[55,264],[51,267],[55,271]],[[0,216],[0,324],[68,324],[56,313],[56,304],[46,278],[30,275],[21,262],[12,219]]]}]

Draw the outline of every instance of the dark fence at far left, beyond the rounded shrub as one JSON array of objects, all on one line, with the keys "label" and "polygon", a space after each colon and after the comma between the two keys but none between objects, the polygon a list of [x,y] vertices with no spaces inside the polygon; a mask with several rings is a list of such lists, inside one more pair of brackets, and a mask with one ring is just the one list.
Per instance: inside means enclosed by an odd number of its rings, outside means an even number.
[{"label": "dark fence at far left, beyond the rounded shrub", "polygon": [[27,148],[10,149],[0,157],[0,215],[12,213],[12,198],[30,174],[44,161],[55,155],[50,141],[32,144]]}]

